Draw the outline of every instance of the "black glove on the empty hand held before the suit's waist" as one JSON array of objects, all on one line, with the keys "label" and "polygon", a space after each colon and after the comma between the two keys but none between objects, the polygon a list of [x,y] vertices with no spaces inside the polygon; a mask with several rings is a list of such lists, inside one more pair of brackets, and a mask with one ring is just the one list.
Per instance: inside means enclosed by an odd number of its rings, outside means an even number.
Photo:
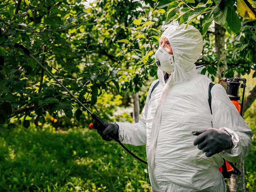
[{"label": "black glove on the empty hand held before the suit's waist", "polygon": [[193,135],[198,135],[194,140],[194,145],[198,145],[199,150],[203,150],[207,157],[213,156],[233,146],[231,135],[227,131],[208,128],[202,131],[193,131]]}]

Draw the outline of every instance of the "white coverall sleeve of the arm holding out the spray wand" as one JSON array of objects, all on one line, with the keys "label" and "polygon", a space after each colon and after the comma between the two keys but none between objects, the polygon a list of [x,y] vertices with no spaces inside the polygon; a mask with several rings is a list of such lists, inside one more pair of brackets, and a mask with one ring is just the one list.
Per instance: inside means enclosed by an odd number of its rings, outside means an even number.
[{"label": "white coverall sleeve of the arm holding out the spray wand", "polygon": [[119,126],[119,140],[124,144],[132,144],[135,146],[146,144],[146,115],[148,111],[149,95],[156,83],[155,80],[149,90],[146,98],[145,106],[142,110],[142,116],[138,123],[116,122]]}]

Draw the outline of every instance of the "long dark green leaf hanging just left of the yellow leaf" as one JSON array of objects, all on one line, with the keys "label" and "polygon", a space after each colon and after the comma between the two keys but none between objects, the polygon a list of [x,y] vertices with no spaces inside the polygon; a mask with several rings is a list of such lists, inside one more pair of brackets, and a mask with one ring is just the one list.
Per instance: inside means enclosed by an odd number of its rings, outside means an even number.
[{"label": "long dark green leaf hanging just left of the yellow leaf", "polygon": [[230,27],[230,30],[232,30],[234,33],[240,32],[241,21],[236,14],[234,7],[228,7],[227,23]]}]

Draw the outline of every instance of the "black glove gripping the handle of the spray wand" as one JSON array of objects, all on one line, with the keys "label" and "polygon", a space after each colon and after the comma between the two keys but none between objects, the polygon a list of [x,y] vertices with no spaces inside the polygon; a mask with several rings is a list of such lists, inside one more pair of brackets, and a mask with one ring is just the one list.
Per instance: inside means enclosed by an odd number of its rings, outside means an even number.
[{"label": "black glove gripping the handle of the spray wand", "polygon": [[[110,123],[108,121],[104,122],[106,125],[108,125],[108,127],[106,127],[103,131],[97,130],[97,132],[100,134],[100,136],[102,137],[103,140],[105,141],[111,141],[114,138],[109,136],[108,133],[113,133],[113,135],[118,138],[118,125],[116,123]],[[97,129],[97,128],[96,128]]]}]

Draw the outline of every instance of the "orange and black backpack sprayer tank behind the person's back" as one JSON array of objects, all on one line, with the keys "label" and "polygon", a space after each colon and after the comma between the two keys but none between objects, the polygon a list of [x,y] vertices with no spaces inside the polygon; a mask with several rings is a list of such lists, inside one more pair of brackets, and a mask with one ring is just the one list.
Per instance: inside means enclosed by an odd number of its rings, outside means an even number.
[{"label": "orange and black backpack sprayer tank behind the person's back", "polygon": [[[218,84],[220,84],[220,82],[222,82],[222,81],[226,82],[226,84],[227,84],[226,92],[227,92],[231,102],[236,106],[236,109],[242,116],[246,79],[240,78],[240,77],[231,78],[231,79],[223,78],[223,79],[219,80]],[[243,81],[243,83],[240,85],[239,81]],[[241,105],[239,104],[240,96],[238,96],[239,86],[241,88],[243,88]],[[223,159],[223,160],[225,160],[225,159]],[[236,166],[233,163],[228,162],[227,160],[225,160],[224,165],[219,168],[219,171],[223,174],[224,178],[230,178],[231,174],[235,174],[238,176],[241,175],[241,172],[238,170],[238,168],[236,168]]]}]

